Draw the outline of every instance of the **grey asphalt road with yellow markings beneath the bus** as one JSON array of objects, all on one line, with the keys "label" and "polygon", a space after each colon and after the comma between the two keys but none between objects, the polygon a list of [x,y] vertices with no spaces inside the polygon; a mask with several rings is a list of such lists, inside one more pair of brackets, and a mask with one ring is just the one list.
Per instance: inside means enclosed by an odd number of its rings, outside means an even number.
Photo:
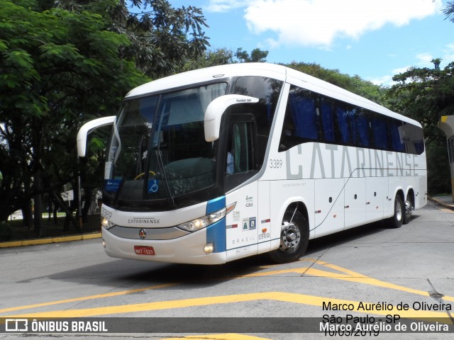
[{"label": "grey asphalt road with yellow markings beneath the bus", "polygon": [[[100,239],[0,249],[0,259],[0,317],[9,329],[23,329],[24,319],[29,330],[42,327],[0,339],[453,339],[454,213],[433,203],[400,229],[372,224],[323,237],[282,265],[266,256],[222,266],[111,259]],[[67,324],[40,321],[55,317]],[[332,317],[338,329],[320,332]],[[74,318],[79,330],[101,331],[66,333]],[[429,319],[438,332],[411,330]]]}]

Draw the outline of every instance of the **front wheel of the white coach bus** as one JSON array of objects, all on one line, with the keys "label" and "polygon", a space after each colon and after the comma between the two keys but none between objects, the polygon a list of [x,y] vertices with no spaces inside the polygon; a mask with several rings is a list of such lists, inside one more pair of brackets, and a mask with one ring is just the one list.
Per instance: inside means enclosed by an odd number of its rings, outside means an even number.
[{"label": "front wheel of the white coach bus", "polygon": [[299,211],[287,210],[282,219],[281,244],[270,252],[270,259],[277,263],[297,261],[309,244],[309,225]]}]

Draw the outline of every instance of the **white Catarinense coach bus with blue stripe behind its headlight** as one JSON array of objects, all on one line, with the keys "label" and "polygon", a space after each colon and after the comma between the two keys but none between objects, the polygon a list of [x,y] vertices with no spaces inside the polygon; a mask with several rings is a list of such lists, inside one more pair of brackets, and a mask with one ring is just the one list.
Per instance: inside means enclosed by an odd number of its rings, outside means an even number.
[{"label": "white Catarinense coach bus with blue stripe behind its headlight", "polygon": [[109,256],[216,264],[369,222],[409,222],[426,204],[415,120],[277,64],[198,69],[138,86],[112,124],[101,229]]}]

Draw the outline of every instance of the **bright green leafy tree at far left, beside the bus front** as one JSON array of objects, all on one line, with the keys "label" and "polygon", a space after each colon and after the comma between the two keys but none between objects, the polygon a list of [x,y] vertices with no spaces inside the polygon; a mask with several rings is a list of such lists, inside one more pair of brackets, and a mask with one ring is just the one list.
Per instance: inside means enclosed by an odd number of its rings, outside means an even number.
[{"label": "bright green leafy tree at far left, beside the bus front", "polygon": [[4,0],[0,8],[0,220],[18,209],[27,217],[34,198],[40,236],[43,194],[76,176],[79,125],[114,113],[147,80],[121,57],[131,44],[109,31],[109,18],[49,4]]}]

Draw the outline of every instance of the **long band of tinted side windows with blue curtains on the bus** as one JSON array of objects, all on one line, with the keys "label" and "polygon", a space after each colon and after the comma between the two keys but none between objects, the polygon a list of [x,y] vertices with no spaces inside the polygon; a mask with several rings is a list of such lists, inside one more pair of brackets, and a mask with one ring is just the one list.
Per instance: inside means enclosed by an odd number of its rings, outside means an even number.
[{"label": "long band of tinted side windows with blue curtains on the bus", "polygon": [[424,152],[423,130],[418,126],[292,86],[279,152],[304,142]]}]

